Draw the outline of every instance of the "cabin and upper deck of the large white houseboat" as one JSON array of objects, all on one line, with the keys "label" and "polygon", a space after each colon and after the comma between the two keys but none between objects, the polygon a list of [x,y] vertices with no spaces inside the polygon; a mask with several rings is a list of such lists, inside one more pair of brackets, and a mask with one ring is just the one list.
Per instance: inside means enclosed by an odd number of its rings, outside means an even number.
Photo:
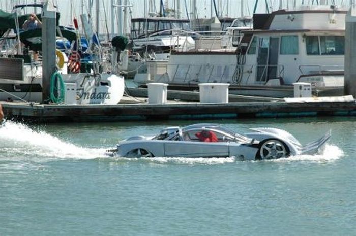
[{"label": "cabin and upper deck of the large white houseboat", "polygon": [[343,74],[346,13],[301,10],[255,15],[254,30],[245,31],[240,43],[245,64],[255,65],[251,70],[255,82],[278,79],[291,84],[305,75]]}]

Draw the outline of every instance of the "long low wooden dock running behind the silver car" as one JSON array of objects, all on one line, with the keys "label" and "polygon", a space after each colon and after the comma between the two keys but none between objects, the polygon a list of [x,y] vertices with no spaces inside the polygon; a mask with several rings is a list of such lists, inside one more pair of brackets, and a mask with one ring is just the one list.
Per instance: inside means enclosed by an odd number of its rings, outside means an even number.
[{"label": "long low wooden dock running behind the silver car", "polygon": [[169,102],[166,104],[118,105],[44,105],[0,102],[5,117],[32,122],[108,122],[194,119],[239,119],[303,116],[354,116],[356,103],[352,96],[328,99],[289,98],[277,102],[200,104]]}]

